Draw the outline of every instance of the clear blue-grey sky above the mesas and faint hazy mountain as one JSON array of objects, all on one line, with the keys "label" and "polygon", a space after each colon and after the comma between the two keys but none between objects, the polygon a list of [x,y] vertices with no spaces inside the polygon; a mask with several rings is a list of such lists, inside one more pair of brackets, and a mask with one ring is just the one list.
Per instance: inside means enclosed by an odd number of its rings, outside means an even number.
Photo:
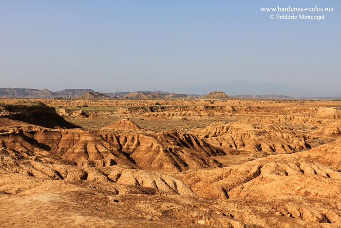
[{"label": "clear blue-grey sky above the mesas and faint hazy mountain", "polygon": [[[334,12],[271,20],[260,10],[277,6]],[[339,0],[0,0],[0,87],[168,91],[247,81],[338,92],[340,10]]]}]

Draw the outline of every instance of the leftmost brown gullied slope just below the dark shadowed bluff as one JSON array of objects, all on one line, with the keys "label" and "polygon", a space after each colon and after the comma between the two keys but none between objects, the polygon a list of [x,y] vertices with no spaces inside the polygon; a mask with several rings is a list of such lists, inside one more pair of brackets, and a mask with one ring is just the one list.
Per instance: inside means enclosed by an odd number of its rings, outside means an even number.
[{"label": "leftmost brown gullied slope just below the dark shadowed bluff", "polygon": [[0,147],[37,154],[55,154],[68,161],[111,159],[114,164],[137,167],[133,159],[99,135],[82,129],[15,130],[0,134]]}]

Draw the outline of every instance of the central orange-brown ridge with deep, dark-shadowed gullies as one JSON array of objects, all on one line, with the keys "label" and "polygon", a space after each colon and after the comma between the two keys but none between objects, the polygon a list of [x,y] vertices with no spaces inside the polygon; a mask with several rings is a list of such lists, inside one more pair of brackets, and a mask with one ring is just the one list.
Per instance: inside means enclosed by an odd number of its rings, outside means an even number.
[{"label": "central orange-brown ridge with deep, dark-shadowed gullies", "polygon": [[130,154],[136,164],[148,170],[179,172],[189,168],[223,166],[211,156],[225,153],[180,130],[155,135],[100,133],[102,137]]}]

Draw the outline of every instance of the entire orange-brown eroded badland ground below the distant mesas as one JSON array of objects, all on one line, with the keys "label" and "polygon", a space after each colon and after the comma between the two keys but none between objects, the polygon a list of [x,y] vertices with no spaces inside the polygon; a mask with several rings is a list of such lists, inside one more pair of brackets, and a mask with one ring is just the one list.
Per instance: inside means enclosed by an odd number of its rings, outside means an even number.
[{"label": "entire orange-brown eroded badland ground below the distant mesas", "polygon": [[341,227],[341,101],[0,99],[0,205],[0,227]]}]

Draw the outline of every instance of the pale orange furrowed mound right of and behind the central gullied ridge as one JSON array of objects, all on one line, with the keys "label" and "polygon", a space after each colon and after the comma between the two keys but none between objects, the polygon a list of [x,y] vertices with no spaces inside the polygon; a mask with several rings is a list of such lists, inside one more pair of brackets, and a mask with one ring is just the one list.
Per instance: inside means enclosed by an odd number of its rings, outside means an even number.
[{"label": "pale orange furrowed mound right of and behind the central gullied ridge", "polygon": [[292,153],[309,148],[305,137],[272,123],[254,123],[252,120],[230,124],[211,124],[190,131],[211,145],[267,153]]}]

